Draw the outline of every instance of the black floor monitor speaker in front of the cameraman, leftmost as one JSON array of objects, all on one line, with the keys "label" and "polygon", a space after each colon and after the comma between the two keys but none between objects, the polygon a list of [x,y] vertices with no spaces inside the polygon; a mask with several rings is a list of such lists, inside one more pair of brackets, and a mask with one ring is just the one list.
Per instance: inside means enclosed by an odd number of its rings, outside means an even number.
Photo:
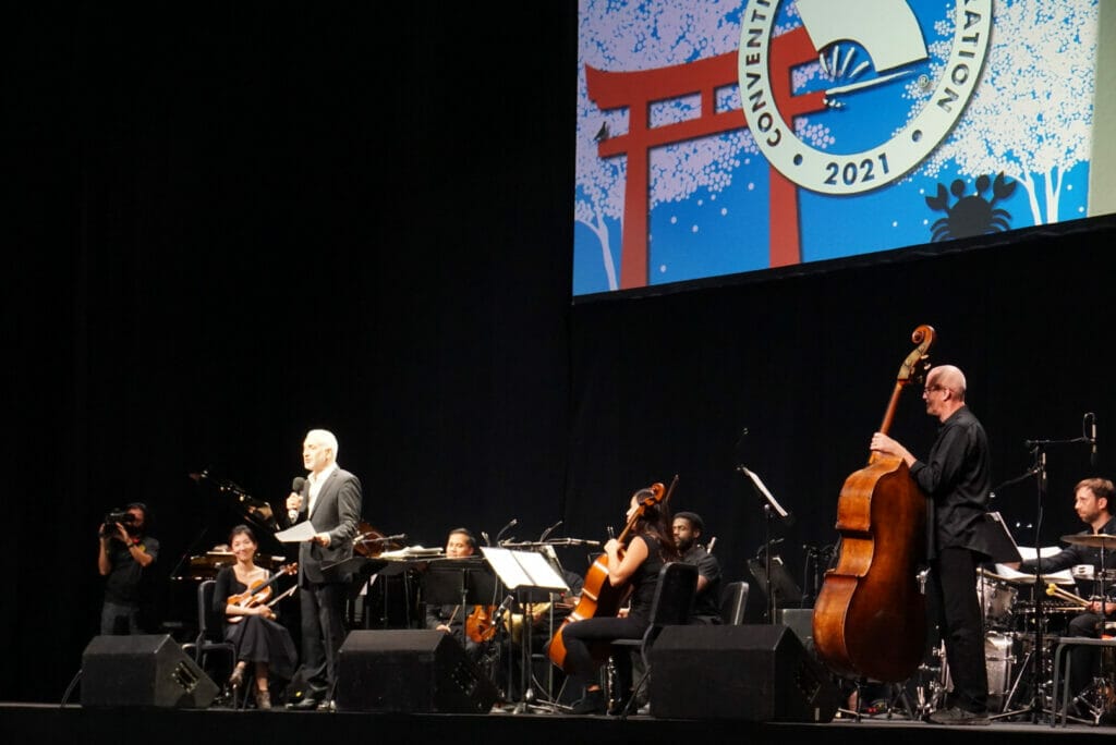
[{"label": "black floor monitor speaker in front of the cameraman, leftmost", "polygon": [[81,706],[205,708],[220,688],[166,633],[99,636],[81,654]]}]

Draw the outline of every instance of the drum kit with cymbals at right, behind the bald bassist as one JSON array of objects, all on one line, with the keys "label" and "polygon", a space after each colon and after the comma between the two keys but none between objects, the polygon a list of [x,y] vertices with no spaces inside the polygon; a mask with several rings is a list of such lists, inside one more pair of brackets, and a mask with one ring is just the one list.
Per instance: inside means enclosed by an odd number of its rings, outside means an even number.
[{"label": "drum kit with cymbals at right, behind the bald bassist", "polygon": [[[1074,534],[1064,535],[1061,540],[1098,548],[1101,557],[1105,551],[1116,549],[1116,535]],[[1096,569],[1086,564],[1043,574],[1041,580],[1035,574],[1020,573],[999,564],[997,571],[978,570],[977,594],[985,630],[989,712],[993,718],[1008,718],[1037,709],[1049,712],[1054,647],[1058,637],[1066,633],[1069,620],[1090,603],[1072,591],[1078,580],[1096,582],[1099,588],[1097,596],[1103,597],[1104,587],[1116,582],[1116,569]],[[1116,623],[1106,623],[1104,633],[1112,633],[1109,629],[1114,627]],[[1039,655],[1038,660],[1035,655]],[[916,684],[917,699],[926,710],[941,706],[945,694],[952,689],[944,644],[933,649],[932,656],[934,660],[920,668],[923,679]],[[1036,661],[1039,664],[1033,665]],[[936,677],[927,681],[927,673]],[[1093,688],[1098,693],[1098,700],[1093,706],[1094,714],[1098,719],[1112,716],[1116,660],[1103,656],[1100,675],[1095,683]]]}]

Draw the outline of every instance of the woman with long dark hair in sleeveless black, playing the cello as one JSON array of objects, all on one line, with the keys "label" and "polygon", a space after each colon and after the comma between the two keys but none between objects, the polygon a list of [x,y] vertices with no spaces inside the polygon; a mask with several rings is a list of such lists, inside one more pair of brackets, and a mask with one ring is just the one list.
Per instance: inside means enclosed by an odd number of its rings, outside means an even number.
[{"label": "woman with long dark hair in sleeveless black, playing the cello", "polygon": [[[600,689],[599,665],[590,652],[590,645],[642,637],[651,622],[651,603],[658,583],[658,572],[666,562],[679,560],[667,506],[658,503],[641,507],[641,502],[651,494],[651,490],[639,490],[632,496],[627,521],[631,522],[635,516],[635,523],[627,546],[620,545],[616,539],[605,544],[609,583],[616,588],[626,584],[632,587],[627,616],[586,618],[570,621],[561,629],[566,647],[565,667],[577,683],[585,686],[585,696],[573,707],[574,714],[607,712],[605,695]],[[643,514],[636,516],[641,509]],[[631,686],[631,657],[617,655],[614,662],[624,687]]]}]

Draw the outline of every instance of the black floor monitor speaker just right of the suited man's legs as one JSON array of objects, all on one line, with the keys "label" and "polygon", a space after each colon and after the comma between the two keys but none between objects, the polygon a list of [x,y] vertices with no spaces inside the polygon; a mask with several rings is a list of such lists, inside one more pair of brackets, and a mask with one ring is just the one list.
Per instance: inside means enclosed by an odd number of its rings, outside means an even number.
[{"label": "black floor monitor speaker just right of the suited man's legs", "polygon": [[337,661],[341,712],[488,714],[499,693],[443,631],[350,631]]}]

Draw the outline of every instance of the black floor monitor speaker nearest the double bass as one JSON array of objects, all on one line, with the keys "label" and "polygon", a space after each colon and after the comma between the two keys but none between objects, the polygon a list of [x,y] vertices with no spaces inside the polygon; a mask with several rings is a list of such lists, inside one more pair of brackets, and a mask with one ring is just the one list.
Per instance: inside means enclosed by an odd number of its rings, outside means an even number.
[{"label": "black floor monitor speaker nearest the double bass", "polygon": [[679,719],[830,722],[839,691],[786,626],[668,626],[651,649],[651,712]]}]

